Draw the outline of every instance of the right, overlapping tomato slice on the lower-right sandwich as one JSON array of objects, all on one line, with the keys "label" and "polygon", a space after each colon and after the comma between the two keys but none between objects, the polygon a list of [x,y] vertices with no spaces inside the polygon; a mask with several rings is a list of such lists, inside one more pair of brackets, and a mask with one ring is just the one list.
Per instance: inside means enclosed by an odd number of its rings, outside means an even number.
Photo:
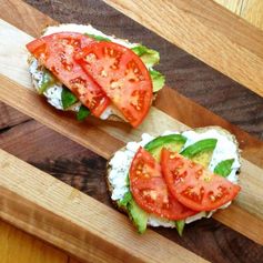
[{"label": "right, overlapping tomato slice on the lower-right sandwich", "polygon": [[233,200],[241,188],[168,149],[162,150],[162,172],[172,195],[195,211],[215,210]]}]

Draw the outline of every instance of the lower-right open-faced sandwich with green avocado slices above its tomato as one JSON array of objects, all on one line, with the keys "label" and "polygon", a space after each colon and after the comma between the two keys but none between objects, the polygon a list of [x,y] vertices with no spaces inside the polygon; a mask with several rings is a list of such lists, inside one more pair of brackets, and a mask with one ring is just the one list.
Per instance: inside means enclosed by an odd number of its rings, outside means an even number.
[{"label": "lower-right open-faced sandwich with green avocado slices above its tomato", "polygon": [[143,233],[146,226],[176,227],[210,218],[240,192],[240,150],[219,127],[142,135],[108,163],[113,203]]}]

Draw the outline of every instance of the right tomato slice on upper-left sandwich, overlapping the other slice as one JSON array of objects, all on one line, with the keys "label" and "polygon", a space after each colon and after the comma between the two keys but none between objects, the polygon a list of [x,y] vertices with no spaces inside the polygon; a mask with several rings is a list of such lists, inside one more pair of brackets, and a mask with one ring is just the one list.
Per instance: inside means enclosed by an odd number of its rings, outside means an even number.
[{"label": "right tomato slice on upper-left sandwich, overlapping the other slice", "polygon": [[132,127],[138,127],[152,103],[152,81],[144,63],[130,49],[113,43],[93,43],[75,57],[104,90]]}]

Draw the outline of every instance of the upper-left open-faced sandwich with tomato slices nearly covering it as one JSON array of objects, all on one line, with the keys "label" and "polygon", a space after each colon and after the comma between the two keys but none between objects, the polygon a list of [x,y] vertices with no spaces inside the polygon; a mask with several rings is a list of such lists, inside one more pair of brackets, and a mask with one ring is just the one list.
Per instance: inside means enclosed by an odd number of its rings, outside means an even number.
[{"label": "upper-left open-faced sandwich with tomato slices nearly covering it", "polygon": [[48,27],[27,44],[33,85],[59,110],[122,120],[138,127],[164,77],[153,70],[159,52],[107,36],[91,26]]}]

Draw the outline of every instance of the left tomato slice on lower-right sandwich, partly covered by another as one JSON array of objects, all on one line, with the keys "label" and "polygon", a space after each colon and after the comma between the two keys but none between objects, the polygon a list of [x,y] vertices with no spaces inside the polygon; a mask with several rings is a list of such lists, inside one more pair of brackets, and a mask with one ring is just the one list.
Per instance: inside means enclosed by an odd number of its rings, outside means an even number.
[{"label": "left tomato slice on lower-right sandwich, partly covered by another", "polygon": [[140,148],[130,168],[130,189],[138,205],[148,213],[169,220],[195,214],[174,199],[162,178],[161,165]]}]

